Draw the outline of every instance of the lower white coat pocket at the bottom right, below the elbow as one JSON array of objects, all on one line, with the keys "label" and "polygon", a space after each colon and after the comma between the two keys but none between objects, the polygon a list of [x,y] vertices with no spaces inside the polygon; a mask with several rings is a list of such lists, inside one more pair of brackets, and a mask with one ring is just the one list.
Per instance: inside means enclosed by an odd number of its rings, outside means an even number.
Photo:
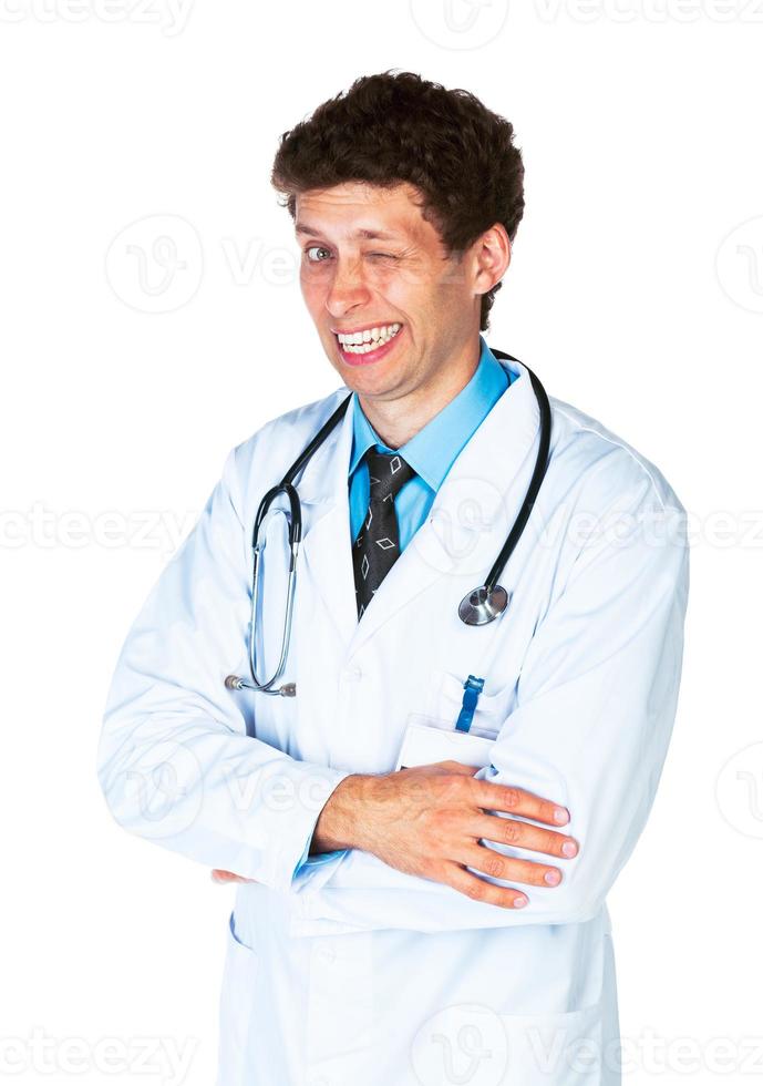
[{"label": "lower white coat pocket at the bottom right, below the elbow", "polygon": [[604,1086],[602,1004],[558,1014],[499,1014],[507,1045],[506,1083],[517,1086]]}]

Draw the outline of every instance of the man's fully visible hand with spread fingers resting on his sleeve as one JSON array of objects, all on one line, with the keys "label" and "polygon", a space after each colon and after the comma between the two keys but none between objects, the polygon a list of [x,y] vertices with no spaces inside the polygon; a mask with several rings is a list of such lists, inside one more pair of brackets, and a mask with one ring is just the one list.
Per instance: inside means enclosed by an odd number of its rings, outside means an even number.
[{"label": "man's fully visible hand with spread fingers resting on his sleeve", "polygon": [[[488,811],[520,814],[548,826],[564,824],[569,812],[532,792],[474,780],[475,766],[440,761],[380,776],[351,775],[329,797],[313,832],[319,851],[360,848],[409,874],[453,887],[461,893],[520,909],[525,894],[473,874],[473,868],[496,879],[550,887],[561,871],[534,860],[506,857],[481,840],[567,859],[573,838],[555,830],[498,818]],[[559,816],[555,812],[560,812]]]}]

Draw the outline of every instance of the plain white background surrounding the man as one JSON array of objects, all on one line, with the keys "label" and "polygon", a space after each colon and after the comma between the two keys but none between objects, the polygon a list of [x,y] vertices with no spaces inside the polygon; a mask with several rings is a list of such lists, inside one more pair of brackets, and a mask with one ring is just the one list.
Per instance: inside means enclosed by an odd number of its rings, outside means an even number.
[{"label": "plain white background surrounding the man", "polygon": [[[338,387],[269,170],[390,68],[513,121],[527,209],[487,341],[692,518],[673,742],[609,899],[625,1082],[760,1080],[762,44],[761,0],[0,0],[9,1080],[214,1079],[233,890],[111,821],[97,735],[228,449]],[[185,1077],[141,1069],[145,1038]]]}]

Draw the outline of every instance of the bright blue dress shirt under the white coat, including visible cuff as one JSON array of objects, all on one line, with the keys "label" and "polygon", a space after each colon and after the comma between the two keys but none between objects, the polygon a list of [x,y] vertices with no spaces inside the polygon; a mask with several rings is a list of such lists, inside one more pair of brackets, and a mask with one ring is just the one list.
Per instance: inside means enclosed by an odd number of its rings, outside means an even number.
[{"label": "bright blue dress shirt under the white coat, including visible cuff", "polygon": [[[394,499],[401,553],[424,523],[435,494],[456,457],[514,379],[482,336],[480,347],[480,360],[468,383],[400,449],[390,449],[384,444],[353,393],[350,404],[352,450],[348,478],[352,541],[357,537],[369,509],[369,469],[363,455],[373,445],[381,452],[399,452],[416,473],[401,486]],[[343,851],[319,852],[308,859],[309,850],[310,842],[295,868],[295,875],[306,863],[321,863]]]}]

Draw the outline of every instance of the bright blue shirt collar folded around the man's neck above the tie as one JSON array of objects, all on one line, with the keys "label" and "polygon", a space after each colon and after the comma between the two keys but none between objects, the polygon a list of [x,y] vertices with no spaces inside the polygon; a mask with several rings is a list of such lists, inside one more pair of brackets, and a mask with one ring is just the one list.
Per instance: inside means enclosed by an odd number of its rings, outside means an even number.
[{"label": "bright blue shirt collar folded around the man's neck above the tie", "polygon": [[350,477],[365,452],[399,452],[435,492],[463,447],[509,385],[509,375],[480,337],[480,360],[471,380],[400,449],[390,449],[365,418],[357,393],[352,396],[352,452]]}]

